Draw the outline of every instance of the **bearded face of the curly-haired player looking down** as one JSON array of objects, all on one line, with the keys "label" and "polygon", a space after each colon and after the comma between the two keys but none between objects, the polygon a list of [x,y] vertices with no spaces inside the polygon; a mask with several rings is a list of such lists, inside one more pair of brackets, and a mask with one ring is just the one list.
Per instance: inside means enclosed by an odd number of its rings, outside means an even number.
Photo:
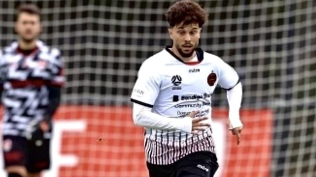
[{"label": "bearded face of the curly-haired player looking down", "polygon": [[200,39],[201,28],[198,24],[183,25],[182,23],[169,29],[173,45],[184,57],[191,57]]}]

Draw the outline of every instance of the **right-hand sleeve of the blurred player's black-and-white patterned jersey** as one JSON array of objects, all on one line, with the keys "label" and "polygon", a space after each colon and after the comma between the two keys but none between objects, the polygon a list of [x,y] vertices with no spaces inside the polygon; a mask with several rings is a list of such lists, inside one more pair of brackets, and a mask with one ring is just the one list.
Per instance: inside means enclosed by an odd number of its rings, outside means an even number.
[{"label": "right-hand sleeve of the blurred player's black-and-white patterned jersey", "polygon": [[58,49],[53,48],[52,54],[52,70],[50,85],[54,87],[62,87],[65,84],[64,77],[64,59]]}]

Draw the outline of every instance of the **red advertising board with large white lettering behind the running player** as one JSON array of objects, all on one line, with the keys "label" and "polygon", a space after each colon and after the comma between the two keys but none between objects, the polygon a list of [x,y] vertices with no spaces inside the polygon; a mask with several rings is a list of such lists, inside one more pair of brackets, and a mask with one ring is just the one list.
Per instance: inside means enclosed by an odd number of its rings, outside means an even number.
[{"label": "red advertising board with large white lettering behind the running player", "polygon": [[[133,124],[130,107],[61,106],[54,117],[52,169],[45,177],[148,177],[143,129]],[[226,109],[213,109],[220,131],[220,165],[216,177],[268,177],[272,146],[272,112],[244,109],[242,139],[237,146],[227,129]]]}]

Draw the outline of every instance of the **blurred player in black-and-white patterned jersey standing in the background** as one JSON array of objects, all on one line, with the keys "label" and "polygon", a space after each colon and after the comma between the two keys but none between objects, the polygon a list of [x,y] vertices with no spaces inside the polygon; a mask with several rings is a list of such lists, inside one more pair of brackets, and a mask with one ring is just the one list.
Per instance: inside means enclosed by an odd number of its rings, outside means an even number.
[{"label": "blurred player in black-and-white patterned jersey standing in the background", "polygon": [[3,157],[8,177],[40,177],[50,166],[51,118],[60,103],[60,51],[38,40],[40,11],[22,4],[16,14],[18,41],[0,51],[4,106]]}]

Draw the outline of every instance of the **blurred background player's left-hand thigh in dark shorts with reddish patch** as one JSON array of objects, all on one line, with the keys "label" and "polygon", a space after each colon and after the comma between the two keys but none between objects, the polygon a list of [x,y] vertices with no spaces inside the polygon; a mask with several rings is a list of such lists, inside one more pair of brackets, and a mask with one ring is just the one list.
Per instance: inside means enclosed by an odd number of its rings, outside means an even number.
[{"label": "blurred background player's left-hand thigh in dark shorts with reddish patch", "polygon": [[3,136],[2,153],[5,169],[17,166],[25,167],[27,161],[27,140],[18,136]]}]

